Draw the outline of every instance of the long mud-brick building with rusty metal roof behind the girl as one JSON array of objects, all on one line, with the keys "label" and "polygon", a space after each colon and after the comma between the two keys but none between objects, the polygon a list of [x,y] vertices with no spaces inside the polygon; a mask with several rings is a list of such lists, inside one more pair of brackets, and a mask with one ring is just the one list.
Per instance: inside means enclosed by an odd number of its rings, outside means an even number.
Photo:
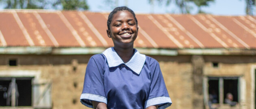
[{"label": "long mud-brick building with rusty metal roof behind the girl", "polygon": [[[108,13],[0,11],[0,108],[78,109],[89,58],[113,46]],[[208,108],[228,92],[256,105],[256,17],[137,14],[137,50],[161,66],[169,109]],[[221,108],[220,107],[220,108]]]}]

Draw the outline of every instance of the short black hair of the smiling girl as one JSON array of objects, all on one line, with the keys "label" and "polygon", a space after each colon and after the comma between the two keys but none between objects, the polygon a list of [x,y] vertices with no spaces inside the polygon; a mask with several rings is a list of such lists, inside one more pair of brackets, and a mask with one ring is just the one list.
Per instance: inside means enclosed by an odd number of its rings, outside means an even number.
[{"label": "short black hair of the smiling girl", "polygon": [[117,13],[118,11],[124,11],[124,10],[127,10],[127,11],[129,11],[130,13],[132,13],[132,15],[133,15],[133,17],[134,17],[134,19],[135,19],[135,21],[136,21],[136,25],[138,25],[138,21],[137,21],[137,19],[136,19],[136,17],[135,17],[135,13],[134,13],[130,8],[128,8],[128,7],[126,7],[126,6],[120,6],[120,7],[116,7],[116,8],[115,8],[114,10],[112,10],[112,12],[108,15],[108,21],[107,21],[108,30],[110,29],[110,23],[111,23],[111,21],[112,21],[112,19],[113,19],[114,14]]}]

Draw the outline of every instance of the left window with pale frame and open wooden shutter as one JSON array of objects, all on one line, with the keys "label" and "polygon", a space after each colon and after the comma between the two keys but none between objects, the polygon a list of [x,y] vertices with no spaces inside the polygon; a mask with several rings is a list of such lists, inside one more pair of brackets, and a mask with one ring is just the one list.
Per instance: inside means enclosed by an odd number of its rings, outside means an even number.
[{"label": "left window with pale frame and open wooden shutter", "polygon": [[0,106],[52,109],[51,89],[38,70],[0,70]]}]

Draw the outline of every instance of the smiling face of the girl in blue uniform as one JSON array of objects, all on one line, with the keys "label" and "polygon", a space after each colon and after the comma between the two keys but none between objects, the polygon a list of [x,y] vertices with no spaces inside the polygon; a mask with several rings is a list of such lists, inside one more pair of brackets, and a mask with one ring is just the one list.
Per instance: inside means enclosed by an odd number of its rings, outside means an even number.
[{"label": "smiling face of the girl in blue uniform", "polygon": [[133,44],[138,35],[138,27],[132,13],[126,10],[115,13],[107,34],[115,46]]}]

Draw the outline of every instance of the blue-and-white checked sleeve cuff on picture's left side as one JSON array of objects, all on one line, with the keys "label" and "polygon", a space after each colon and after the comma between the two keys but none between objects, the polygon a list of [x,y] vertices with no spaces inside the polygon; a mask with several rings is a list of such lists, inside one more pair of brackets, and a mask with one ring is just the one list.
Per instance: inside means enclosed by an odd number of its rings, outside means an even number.
[{"label": "blue-and-white checked sleeve cuff on picture's left side", "polygon": [[102,102],[102,103],[107,104],[107,100],[103,96],[99,96],[99,95],[96,95],[96,94],[88,94],[88,93],[81,94],[80,102],[83,105],[85,105],[87,107],[90,107],[90,108],[93,108],[93,105],[92,105],[91,101],[98,101],[98,102]]}]

